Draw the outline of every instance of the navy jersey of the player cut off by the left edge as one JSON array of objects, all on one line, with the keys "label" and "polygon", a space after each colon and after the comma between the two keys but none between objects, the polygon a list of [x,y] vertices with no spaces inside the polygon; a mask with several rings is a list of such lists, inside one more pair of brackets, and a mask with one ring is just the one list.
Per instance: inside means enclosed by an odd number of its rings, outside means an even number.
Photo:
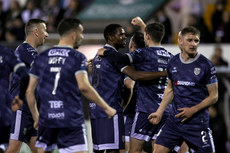
[{"label": "navy jersey of the player cut off by the left edge", "polygon": [[21,66],[24,64],[17,59],[13,50],[0,46],[0,126],[9,126],[11,123],[9,77]]}]

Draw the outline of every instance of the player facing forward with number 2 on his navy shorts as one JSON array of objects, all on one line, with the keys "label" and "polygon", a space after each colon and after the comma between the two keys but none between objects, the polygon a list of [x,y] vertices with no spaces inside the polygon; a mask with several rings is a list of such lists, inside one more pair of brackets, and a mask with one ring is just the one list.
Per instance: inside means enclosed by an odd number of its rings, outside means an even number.
[{"label": "player facing forward with number 2 on his navy shorts", "polygon": [[154,153],[169,153],[183,141],[199,153],[215,152],[209,128],[208,107],[218,99],[218,81],[213,64],[197,52],[200,31],[185,27],[180,32],[179,48],[168,64],[168,85],[161,104],[149,115],[158,124],[169,103],[172,111],[158,133]]}]

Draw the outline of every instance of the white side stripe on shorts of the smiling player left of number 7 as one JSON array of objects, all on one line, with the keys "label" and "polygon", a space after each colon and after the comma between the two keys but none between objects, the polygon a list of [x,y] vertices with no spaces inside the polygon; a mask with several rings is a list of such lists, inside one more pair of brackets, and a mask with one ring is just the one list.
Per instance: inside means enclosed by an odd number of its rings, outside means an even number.
[{"label": "white side stripe on shorts of the smiling player left of number 7", "polygon": [[22,120],[22,111],[17,110],[16,118],[15,118],[14,133],[10,133],[10,139],[12,139],[12,140],[18,140],[19,139],[21,120]]}]

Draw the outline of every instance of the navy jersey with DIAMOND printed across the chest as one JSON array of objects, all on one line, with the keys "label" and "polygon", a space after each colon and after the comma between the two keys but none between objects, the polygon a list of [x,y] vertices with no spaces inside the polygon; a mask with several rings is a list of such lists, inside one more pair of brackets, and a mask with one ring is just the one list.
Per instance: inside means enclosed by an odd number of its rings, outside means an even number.
[{"label": "navy jersey with DIAMOND printed across the chest", "polygon": [[[181,54],[177,54],[169,62],[168,76],[174,89],[172,101],[172,114],[170,119],[176,123],[181,122],[181,118],[175,118],[179,113],[177,109],[192,107],[201,103],[207,96],[207,86],[217,82],[216,71],[213,64],[203,55],[198,54],[193,61],[184,62]],[[188,127],[209,126],[208,109],[201,110],[191,117],[184,124]]]}]

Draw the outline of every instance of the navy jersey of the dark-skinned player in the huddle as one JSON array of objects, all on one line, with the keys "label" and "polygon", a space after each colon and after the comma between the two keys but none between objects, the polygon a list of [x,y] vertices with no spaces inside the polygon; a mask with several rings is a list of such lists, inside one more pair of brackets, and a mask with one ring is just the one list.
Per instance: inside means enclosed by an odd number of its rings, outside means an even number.
[{"label": "navy jersey of the dark-skinned player in the huddle", "polygon": [[[115,52],[112,46],[105,45],[107,50]],[[124,87],[124,75],[121,73],[122,64],[114,63],[106,58],[95,56],[93,59],[92,85],[99,95],[117,112],[122,112],[122,89]],[[106,113],[94,103],[90,103],[90,115],[92,119],[105,118]]]}]

